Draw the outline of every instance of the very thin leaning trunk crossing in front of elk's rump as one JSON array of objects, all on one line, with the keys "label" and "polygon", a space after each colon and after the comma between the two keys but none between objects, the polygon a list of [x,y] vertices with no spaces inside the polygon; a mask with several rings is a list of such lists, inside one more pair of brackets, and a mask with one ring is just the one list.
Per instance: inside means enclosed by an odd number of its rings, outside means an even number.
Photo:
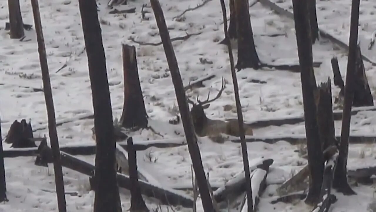
[{"label": "very thin leaning trunk crossing in front of elk's rump", "polygon": [[[235,1],[235,0],[233,0],[233,1]],[[224,5],[224,0],[220,0],[220,2],[221,2],[222,14],[223,14],[224,37],[226,39],[230,36],[229,33],[227,32],[226,6]],[[246,192],[247,192],[247,209],[250,212],[250,211],[253,211],[253,209],[254,209],[253,206],[255,205],[255,203],[253,203],[253,198],[252,198],[253,195],[252,195],[252,184],[251,184],[250,171],[249,171],[247,143],[246,143],[246,137],[245,137],[245,132],[244,132],[243,114],[242,114],[242,111],[241,111],[238,80],[237,80],[237,76],[236,76],[236,72],[235,72],[231,42],[227,43],[227,49],[228,49],[228,52],[229,52],[232,83],[233,83],[233,86],[234,86],[235,102],[236,102],[236,108],[237,108],[237,114],[238,114],[238,126],[239,126],[240,141],[241,141],[241,153],[242,153],[242,156],[243,156],[243,169],[244,169],[244,175],[245,175],[245,179],[246,179],[245,186],[246,186]]]}]

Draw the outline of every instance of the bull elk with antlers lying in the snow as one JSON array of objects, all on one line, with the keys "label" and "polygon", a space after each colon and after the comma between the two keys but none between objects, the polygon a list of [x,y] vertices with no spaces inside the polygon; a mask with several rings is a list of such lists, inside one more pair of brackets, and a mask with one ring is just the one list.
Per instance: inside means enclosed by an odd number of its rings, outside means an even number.
[{"label": "bull elk with antlers lying in the snow", "polygon": [[[232,136],[240,136],[239,124],[238,120],[233,118],[226,121],[222,120],[212,120],[206,117],[204,109],[209,108],[210,103],[217,100],[224,88],[226,87],[226,83],[222,78],[222,86],[220,91],[218,92],[217,96],[209,100],[210,92],[208,93],[208,98],[205,101],[200,101],[199,97],[197,96],[196,101],[194,103],[187,97],[187,101],[189,104],[192,105],[191,108],[191,116],[193,119],[193,126],[196,134],[200,137],[204,137],[207,135],[218,135],[218,134],[227,134]],[[253,130],[247,124],[244,124],[244,131],[246,135],[253,135]]]}]

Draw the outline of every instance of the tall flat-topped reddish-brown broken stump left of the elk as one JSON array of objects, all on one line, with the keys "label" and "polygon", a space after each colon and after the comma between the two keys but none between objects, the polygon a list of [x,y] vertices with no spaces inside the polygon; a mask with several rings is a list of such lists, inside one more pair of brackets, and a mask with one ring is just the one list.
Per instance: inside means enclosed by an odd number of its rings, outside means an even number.
[{"label": "tall flat-topped reddish-brown broken stump left of the elk", "polygon": [[122,45],[124,105],[120,123],[124,128],[146,128],[147,114],[138,77],[136,47]]}]

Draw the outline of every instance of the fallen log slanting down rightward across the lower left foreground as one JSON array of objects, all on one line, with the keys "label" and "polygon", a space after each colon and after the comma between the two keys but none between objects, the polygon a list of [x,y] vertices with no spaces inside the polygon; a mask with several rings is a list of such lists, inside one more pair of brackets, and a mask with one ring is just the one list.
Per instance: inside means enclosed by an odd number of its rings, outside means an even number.
[{"label": "fallen log slanting down rightward across the lower left foreground", "polygon": [[[36,165],[52,163],[52,150],[50,147],[40,145],[38,147],[38,153],[39,155],[36,158]],[[60,152],[60,157],[62,166],[80,172],[82,174],[88,175],[90,177],[94,176],[95,167],[92,164],[89,164],[64,152]],[[128,190],[130,189],[131,181],[127,175],[117,173],[117,181],[120,187],[123,187]],[[193,206],[193,199],[191,197],[184,194],[180,194],[176,190],[164,189],[162,187],[152,185],[142,180],[139,180],[138,183],[141,194],[144,194],[147,197],[156,198],[160,200],[162,204],[181,205],[183,207],[190,208]]]}]

